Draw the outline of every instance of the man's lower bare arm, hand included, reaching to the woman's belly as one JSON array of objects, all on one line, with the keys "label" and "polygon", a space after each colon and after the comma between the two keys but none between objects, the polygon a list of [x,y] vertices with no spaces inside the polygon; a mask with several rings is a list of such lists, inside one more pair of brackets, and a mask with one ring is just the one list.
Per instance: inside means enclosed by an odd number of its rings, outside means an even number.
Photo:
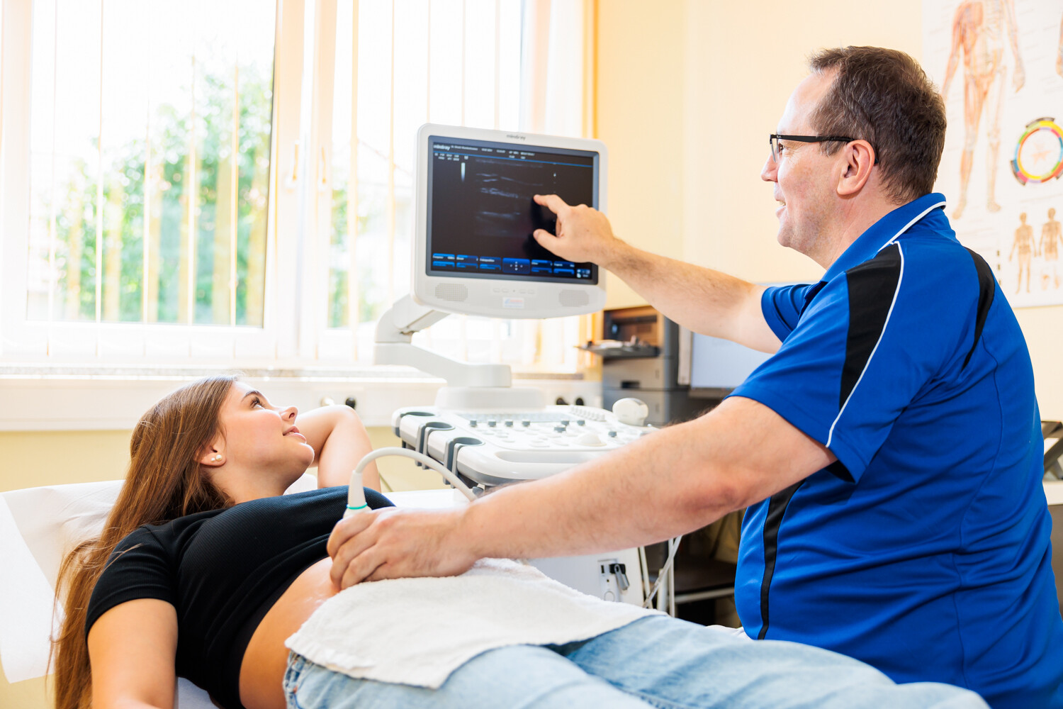
[{"label": "man's lower bare arm, hand included, reaching to the woman's belly", "polygon": [[333,581],[459,574],[484,557],[575,556],[641,546],[764,500],[834,456],[775,411],[731,398],[559,475],[451,511],[376,510],[339,522]]}]

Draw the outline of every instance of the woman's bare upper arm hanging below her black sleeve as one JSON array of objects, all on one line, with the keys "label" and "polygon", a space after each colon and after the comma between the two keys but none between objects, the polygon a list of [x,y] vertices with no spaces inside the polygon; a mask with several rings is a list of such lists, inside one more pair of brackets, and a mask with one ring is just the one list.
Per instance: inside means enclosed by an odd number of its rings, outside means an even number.
[{"label": "woman's bare upper arm hanging below her black sleeve", "polygon": [[155,598],[119,604],[88,632],[92,709],[173,709],[178,613]]}]

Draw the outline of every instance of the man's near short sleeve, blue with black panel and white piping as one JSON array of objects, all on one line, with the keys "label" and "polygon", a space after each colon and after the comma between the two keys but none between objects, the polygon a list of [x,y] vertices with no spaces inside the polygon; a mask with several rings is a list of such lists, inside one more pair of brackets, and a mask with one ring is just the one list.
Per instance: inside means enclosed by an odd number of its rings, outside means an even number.
[{"label": "man's near short sleeve, blue with black panel and white piping", "polygon": [[902,273],[894,246],[832,278],[778,352],[732,393],[764,404],[827,446],[843,467],[828,470],[843,479],[860,479],[941,366],[947,319]]}]

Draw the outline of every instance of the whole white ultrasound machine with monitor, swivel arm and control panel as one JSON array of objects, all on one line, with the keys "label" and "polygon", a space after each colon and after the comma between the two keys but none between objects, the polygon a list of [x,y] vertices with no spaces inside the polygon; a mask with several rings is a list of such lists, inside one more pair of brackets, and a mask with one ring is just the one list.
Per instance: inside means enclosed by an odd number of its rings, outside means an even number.
[{"label": "whole white ultrasound machine with monitor, swivel arm and control panel", "polygon": [[[414,333],[452,313],[557,318],[603,308],[605,273],[556,256],[532,233],[555,226],[534,195],[605,210],[605,145],[435,124],[423,125],[417,141],[412,292],[382,316],[374,348],[376,364],[407,365],[446,381],[433,406],[392,417],[410,457],[472,499],[652,435],[648,409],[638,400],[621,400],[612,410],[547,406],[539,389],[512,386],[508,366],[456,361],[411,343]],[[591,559],[590,571],[576,574],[584,580],[570,585],[617,601],[652,600],[660,585],[642,588],[647,575],[635,573],[644,567],[639,552]]]}]

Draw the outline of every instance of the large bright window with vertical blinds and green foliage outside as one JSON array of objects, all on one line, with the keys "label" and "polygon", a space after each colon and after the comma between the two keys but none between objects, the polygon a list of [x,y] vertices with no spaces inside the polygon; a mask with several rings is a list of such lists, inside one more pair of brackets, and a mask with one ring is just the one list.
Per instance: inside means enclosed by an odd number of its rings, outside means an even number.
[{"label": "large bright window with vertical blinds and green foliage outside", "polygon": [[[547,129],[552,72],[583,106],[570,5],[5,0],[0,354],[371,364],[409,286],[417,128]],[[568,113],[554,131],[583,132]],[[557,371],[581,327],[452,317],[418,337]]]}]

